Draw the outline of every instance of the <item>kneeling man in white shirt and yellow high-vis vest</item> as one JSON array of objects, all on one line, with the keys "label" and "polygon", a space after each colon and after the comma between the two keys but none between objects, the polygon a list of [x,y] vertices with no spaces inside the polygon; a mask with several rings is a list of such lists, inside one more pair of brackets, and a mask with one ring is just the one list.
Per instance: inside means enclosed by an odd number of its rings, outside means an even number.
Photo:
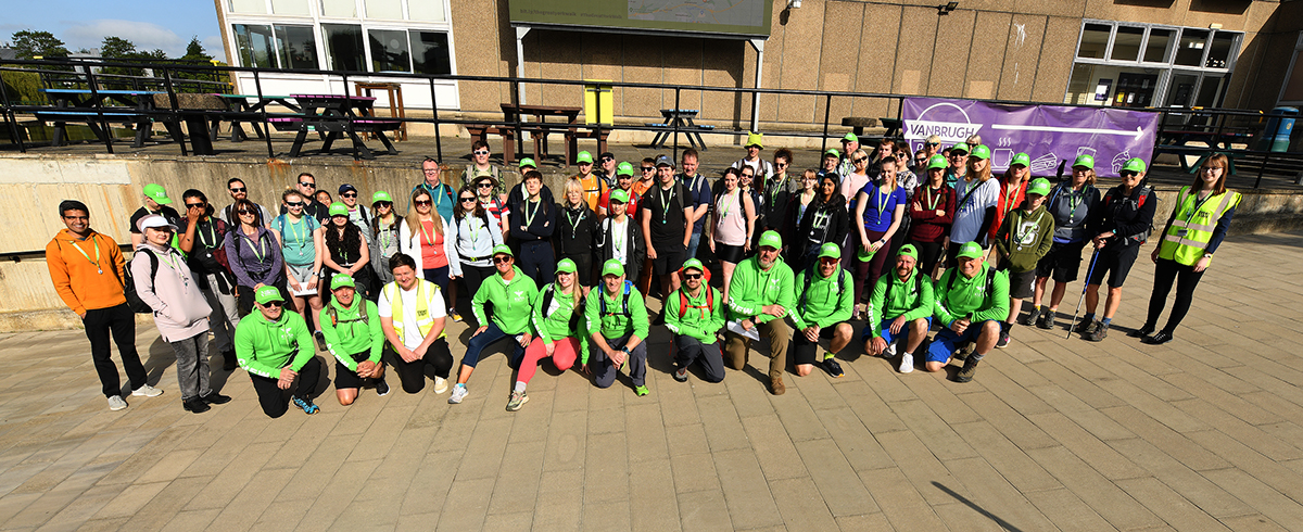
[{"label": "kneeling man in white shirt and yellow high-vis vest", "polygon": [[448,390],[452,353],[443,329],[447,308],[439,286],[416,274],[416,259],[407,253],[390,258],[394,282],[380,289],[380,330],[388,340],[390,365],[399,374],[403,391],[425,389],[426,376],[434,377],[434,392]]}]

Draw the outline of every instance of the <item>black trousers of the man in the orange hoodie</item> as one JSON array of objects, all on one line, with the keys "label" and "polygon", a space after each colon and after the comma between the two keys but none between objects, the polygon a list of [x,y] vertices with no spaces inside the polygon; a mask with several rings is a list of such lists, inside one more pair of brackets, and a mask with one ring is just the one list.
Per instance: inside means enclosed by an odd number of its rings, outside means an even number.
[{"label": "black trousers of the man in the orange hoodie", "polygon": [[126,370],[126,379],[132,383],[132,390],[147,385],[149,378],[145,366],[141,365],[141,355],[136,352],[136,314],[126,304],[109,306],[107,309],[86,309],[86,338],[90,339],[90,357],[95,361],[95,373],[99,374],[99,383],[104,387],[104,396],[122,394],[122,381],[117,378],[117,365],[109,359],[108,338],[113,336],[117,344],[117,353],[122,357],[122,369]]}]

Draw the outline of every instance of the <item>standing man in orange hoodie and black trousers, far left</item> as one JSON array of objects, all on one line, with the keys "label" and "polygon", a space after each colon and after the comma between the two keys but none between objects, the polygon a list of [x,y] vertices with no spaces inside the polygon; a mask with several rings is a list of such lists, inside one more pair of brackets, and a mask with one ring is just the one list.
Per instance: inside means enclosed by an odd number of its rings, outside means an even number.
[{"label": "standing man in orange hoodie and black trousers, far left", "polygon": [[108,409],[126,408],[117,366],[108,357],[109,334],[122,356],[126,378],[134,390],[132,395],[152,398],[163,394],[163,390],[149,385],[141,356],[136,352],[136,314],[126,305],[122,292],[126,263],[122,250],[113,239],[90,228],[86,203],[64,200],[59,203],[59,215],[68,228],[59,231],[46,245],[46,265],[59,297],[86,326],[90,355],[108,398]]}]

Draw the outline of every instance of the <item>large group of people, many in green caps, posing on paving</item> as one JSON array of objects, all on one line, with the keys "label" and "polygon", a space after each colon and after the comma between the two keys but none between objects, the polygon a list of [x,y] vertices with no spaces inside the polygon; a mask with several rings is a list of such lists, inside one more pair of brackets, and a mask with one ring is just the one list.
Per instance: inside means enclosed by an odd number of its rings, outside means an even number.
[{"label": "large group of people, many in green caps, posing on paving", "polygon": [[[671,347],[652,356],[671,359],[676,381],[694,365],[708,382],[726,378],[726,368],[745,370],[753,344],[767,347],[774,395],[786,390],[788,357],[799,377],[816,368],[840,377],[837,356],[860,323],[864,352],[894,359],[900,373],[916,368],[915,356],[928,372],[959,361],[954,379],[968,382],[993,348],[1010,344],[1016,325],[1058,323],[1083,262],[1085,314],[1070,327],[1100,342],[1158,202],[1140,159],[1127,160],[1121,183],[1101,193],[1091,155],[1078,156],[1071,177],[1057,184],[1032,176],[1027,154],[994,175],[980,138],[949,147],[929,138],[916,153],[891,140],[866,150],[847,134],[840,151],[804,171],[786,149],[766,160],[758,133],[745,149],[713,185],[697,172],[694,150],[678,162],[619,163],[606,153],[599,164],[581,151],[579,173],[554,198],[528,158],[508,189],[487,145],[476,142],[459,186],[427,158],[399,198],[405,206],[387,190],[374,190],[366,205],[353,184],[341,184],[332,201],[304,172],[280,194],[275,216],[240,179],[227,184],[231,202],[222,209],[202,190],[182,192],[184,211],[149,184],[130,219],[129,263],[76,200],[59,206],[66,229],[47,245],[47,262],[59,295],[83,319],[111,409],[128,406],[109,338],[130,395],[163,392],[146,382],[134,348],[132,314],[142,312],[176,353],[190,412],[231,400],[208,385],[210,332],[222,370],[244,369],[271,417],[291,406],[319,411],[318,351],[336,360],[341,406],[362,389],[390,392],[387,370],[404,392],[430,379],[457,404],[481,359],[506,348],[516,372],[507,409],[516,411],[543,359],[590,374],[602,389],[627,368],[633,392],[649,394],[646,340],[661,325]],[[1134,332],[1144,343],[1173,339],[1226,235],[1240,198],[1226,189],[1226,167],[1222,155],[1205,158],[1158,232],[1149,312]],[[1158,329],[1174,284],[1174,308]],[[649,312],[652,297],[662,312]],[[1032,300],[1025,314],[1024,299]],[[473,322],[464,343],[448,338],[448,318]],[[463,353],[456,365],[455,351]]]}]

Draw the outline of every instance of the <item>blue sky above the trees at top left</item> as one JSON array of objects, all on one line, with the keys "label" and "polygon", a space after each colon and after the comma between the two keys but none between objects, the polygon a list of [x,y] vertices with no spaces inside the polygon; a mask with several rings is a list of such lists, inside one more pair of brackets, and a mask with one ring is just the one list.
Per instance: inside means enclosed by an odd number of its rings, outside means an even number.
[{"label": "blue sky above the trees at top left", "polygon": [[96,48],[107,35],[121,37],[137,48],[162,48],[169,57],[185,53],[198,35],[210,55],[225,59],[222,30],[212,0],[8,0],[0,18],[0,42],[14,31],[44,30],[68,50]]}]

